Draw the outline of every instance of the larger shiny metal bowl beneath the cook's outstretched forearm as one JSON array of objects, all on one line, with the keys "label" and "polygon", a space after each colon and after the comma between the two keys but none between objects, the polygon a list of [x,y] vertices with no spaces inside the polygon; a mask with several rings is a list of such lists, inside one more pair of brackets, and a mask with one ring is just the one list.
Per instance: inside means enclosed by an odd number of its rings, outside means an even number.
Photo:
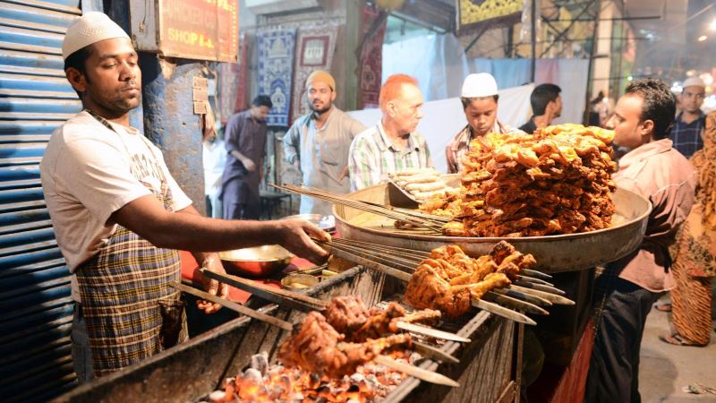
[{"label": "larger shiny metal bowl beneath the cook's outstretched forearm", "polygon": [[219,252],[224,269],[229,274],[249,277],[268,277],[286,269],[294,255],[277,244]]}]

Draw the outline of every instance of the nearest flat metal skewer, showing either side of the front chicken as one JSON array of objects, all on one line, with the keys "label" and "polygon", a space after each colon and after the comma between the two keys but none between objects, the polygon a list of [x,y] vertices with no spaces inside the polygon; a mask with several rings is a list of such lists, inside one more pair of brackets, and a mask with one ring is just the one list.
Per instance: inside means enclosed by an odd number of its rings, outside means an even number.
[{"label": "nearest flat metal skewer, showing either side of the front chicken", "polygon": [[[175,287],[176,289],[185,292],[187,294],[191,294],[192,296],[197,296],[201,299],[205,299],[208,301],[211,301],[216,304],[220,304],[222,306],[225,306],[228,309],[233,310],[236,313],[242,313],[246,316],[249,316],[254,319],[258,319],[262,322],[267,322],[268,324],[277,326],[283,330],[292,331],[294,330],[294,325],[290,322],[282,321],[280,319],[274,318],[273,316],[269,316],[266,313],[260,313],[258,311],[255,311],[251,308],[247,308],[241,304],[236,304],[231,301],[226,301],[225,299],[221,299],[218,296],[213,296],[205,291],[201,291],[199,289],[184,286],[181,283],[173,282],[169,283],[171,287]],[[415,342],[413,341],[413,345]],[[421,351],[418,351],[421,347],[417,347],[416,351],[420,354],[423,354]],[[431,354],[431,351],[439,351],[436,348],[429,347],[428,349],[423,349],[425,353],[429,356]],[[441,354],[444,354],[440,351]],[[422,369],[420,367],[417,367],[413,364],[405,364],[405,363],[399,363],[396,360],[388,357],[388,356],[375,356],[373,357],[373,361],[375,361],[378,364],[385,365],[389,368],[392,368],[396,371],[400,371],[403,373],[406,373],[410,376],[413,376],[414,378],[420,379],[422,381],[436,383],[439,385],[446,385],[451,387],[459,387],[460,384],[453,381],[452,379],[448,378],[447,376],[441,374],[441,373],[434,373],[432,371],[428,371],[425,369]]]}]

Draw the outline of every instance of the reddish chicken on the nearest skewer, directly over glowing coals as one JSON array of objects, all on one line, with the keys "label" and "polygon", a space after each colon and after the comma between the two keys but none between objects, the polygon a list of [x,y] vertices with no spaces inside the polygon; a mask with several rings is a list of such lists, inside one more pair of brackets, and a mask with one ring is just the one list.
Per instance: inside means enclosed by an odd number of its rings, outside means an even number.
[{"label": "reddish chicken on the nearest skewer, directly over glowing coals", "polygon": [[363,343],[346,343],[343,339],[322,314],[313,311],[308,313],[301,329],[278,348],[278,358],[286,366],[298,366],[311,373],[337,378],[355,373],[358,365],[389,349],[411,347],[408,334],[369,339]]}]

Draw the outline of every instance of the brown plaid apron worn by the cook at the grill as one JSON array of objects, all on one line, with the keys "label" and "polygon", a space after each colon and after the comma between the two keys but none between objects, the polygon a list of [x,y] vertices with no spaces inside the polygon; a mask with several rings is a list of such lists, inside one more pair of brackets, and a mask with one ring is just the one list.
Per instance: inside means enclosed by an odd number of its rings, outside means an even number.
[{"label": "brown plaid apron worn by the cook at the grill", "polygon": [[[101,116],[90,115],[112,129]],[[161,175],[159,190],[147,188],[171,211],[172,194]],[[118,226],[76,275],[96,376],[138,363],[188,339],[181,293],[169,287],[171,281],[181,281],[177,251],[157,248]]]}]

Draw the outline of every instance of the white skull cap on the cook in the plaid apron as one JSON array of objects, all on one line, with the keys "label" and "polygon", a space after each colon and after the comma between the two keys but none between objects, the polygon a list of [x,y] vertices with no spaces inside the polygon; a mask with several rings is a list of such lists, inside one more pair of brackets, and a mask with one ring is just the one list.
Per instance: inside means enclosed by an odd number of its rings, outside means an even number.
[{"label": "white skull cap on the cook in the plaid apron", "polygon": [[[126,38],[129,35],[109,19],[106,13],[90,12],[84,13],[80,18],[72,22],[62,41],[62,59],[80,50],[82,47],[90,46],[100,40]],[[131,39],[130,39],[131,40]]]}]

